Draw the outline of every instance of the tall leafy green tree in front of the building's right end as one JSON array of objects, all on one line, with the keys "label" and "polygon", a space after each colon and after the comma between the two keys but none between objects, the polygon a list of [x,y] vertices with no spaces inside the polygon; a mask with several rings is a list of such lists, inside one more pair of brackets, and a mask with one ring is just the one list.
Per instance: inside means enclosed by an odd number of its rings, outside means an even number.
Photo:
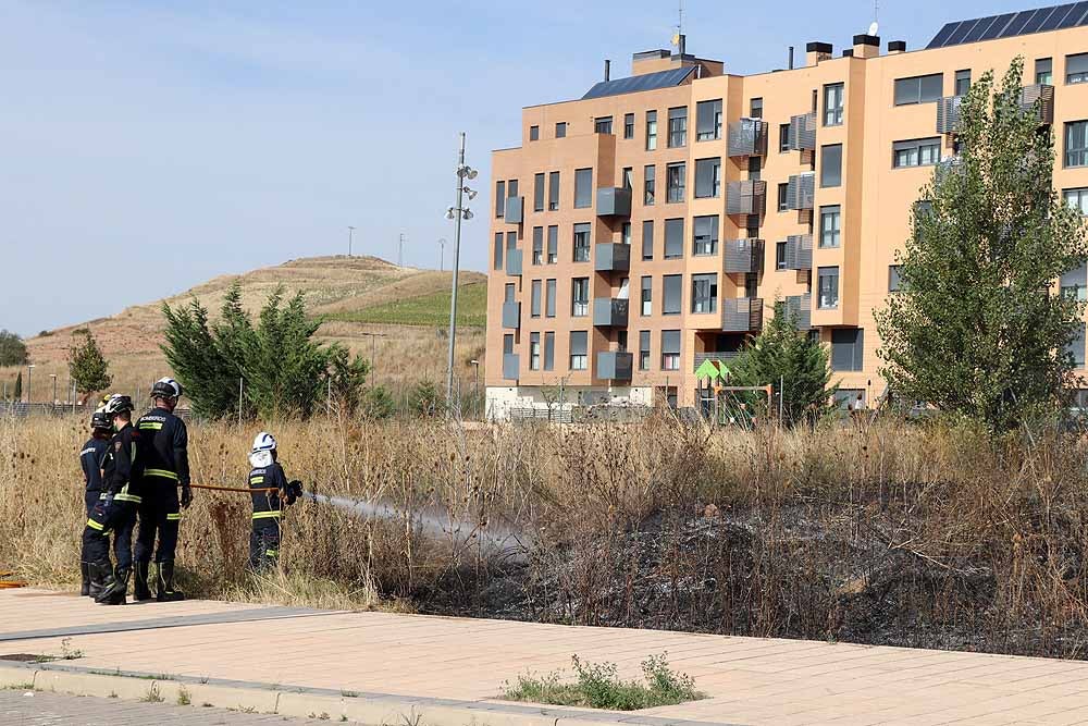
[{"label": "tall leafy green tree in front of the building's right end", "polygon": [[1054,141],[1024,109],[1024,61],[988,72],[960,107],[955,163],[939,165],[900,256],[902,292],[877,312],[881,372],[901,397],[1007,430],[1073,387],[1084,313],[1053,295],[1088,259],[1083,221],[1054,192]]}]

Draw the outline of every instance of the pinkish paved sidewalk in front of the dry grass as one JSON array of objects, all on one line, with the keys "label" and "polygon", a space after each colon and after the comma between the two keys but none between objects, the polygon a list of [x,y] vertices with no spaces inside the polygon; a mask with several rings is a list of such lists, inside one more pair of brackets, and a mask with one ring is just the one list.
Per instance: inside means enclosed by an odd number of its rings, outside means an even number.
[{"label": "pinkish paved sidewalk in front of the dry grass", "polygon": [[200,601],[110,608],[72,595],[0,591],[0,655],[65,649],[82,657],[45,667],[306,689],[345,701],[475,704],[496,718],[480,724],[521,723],[498,716],[534,712],[498,702],[503,682],[519,674],[569,668],[577,653],[635,676],[642,660],[663,651],[709,698],[599,714],[601,722],[1088,723],[1081,662]]}]

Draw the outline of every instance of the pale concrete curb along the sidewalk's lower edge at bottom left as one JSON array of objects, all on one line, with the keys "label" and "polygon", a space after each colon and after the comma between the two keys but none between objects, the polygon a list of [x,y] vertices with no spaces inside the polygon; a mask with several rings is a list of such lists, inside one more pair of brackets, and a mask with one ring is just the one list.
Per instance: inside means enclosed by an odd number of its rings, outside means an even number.
[{"label": "pale concrete curb along the sidewalk's lower edge at bottom left", "polygon": [[737,726],[640,716],[613,711],[534,706],[503,701],[457,701],[390,693],[350,693],[323,688],[194,678],[170,674],[101,670],[60,663],[0,663],[0,688],[97,696],[126,701],[211,705],[299,718],[347,719],[368,726]]}]

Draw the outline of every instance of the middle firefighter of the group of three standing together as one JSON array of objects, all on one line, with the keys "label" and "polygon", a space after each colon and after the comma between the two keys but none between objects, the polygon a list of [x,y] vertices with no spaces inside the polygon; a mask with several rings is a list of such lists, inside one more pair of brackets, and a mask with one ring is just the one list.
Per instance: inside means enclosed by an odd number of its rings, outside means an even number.
[{"label": "middle firefighter of the group of three standing together", "polygon": [[[106,605],[125,604],[132,568],[133,527],[141,502],[144,452],[139,432],[132,424],[132,398],[124,395],[111,396],[103,408],[114,430],[102,459],[106,496],[95,504],[83,530],[91,587],[98,589],[95,602]],[[114,537],[116,569],[110,563],[110,532]]]}]

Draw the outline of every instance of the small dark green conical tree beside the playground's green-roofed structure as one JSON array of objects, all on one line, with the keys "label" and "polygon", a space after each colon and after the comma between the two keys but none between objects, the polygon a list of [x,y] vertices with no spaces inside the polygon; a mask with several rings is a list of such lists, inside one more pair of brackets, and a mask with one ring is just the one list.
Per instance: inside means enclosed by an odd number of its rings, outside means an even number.
[{"label": "small dark green conical tree beside the playground's green-roofed structure", "polygon": [[[815,422],[834,408],[831,398],[838,386],[831,385],[827,348],[798,331],[783,300],[775,302],[775,316],[729,369],[731,385],[770,384],[776,402],[782,396],[787,426]],[[766,398],[753,397],[752,403],[765,406]]]}]

